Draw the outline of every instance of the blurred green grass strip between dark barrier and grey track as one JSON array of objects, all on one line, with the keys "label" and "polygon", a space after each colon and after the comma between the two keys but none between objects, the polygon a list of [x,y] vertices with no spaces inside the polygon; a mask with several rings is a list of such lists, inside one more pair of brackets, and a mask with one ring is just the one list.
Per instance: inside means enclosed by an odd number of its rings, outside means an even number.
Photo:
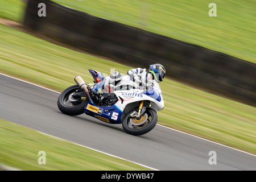
[{"label": "blurred green grass strip between dark barrier and grey track", "polygon": [[[110,74],[130,67],[86,55],[0,24],[0,72],[60,92],[80,75],[93,81],[88,69]],[[256,108],[165,79],[165,101],[159,123],[256,154]]]}]

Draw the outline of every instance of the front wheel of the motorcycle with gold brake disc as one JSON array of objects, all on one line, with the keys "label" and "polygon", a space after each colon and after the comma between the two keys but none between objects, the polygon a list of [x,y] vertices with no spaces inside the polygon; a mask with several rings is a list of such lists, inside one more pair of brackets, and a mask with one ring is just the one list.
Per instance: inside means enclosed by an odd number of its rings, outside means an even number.
[{"label": "front wheel of the motorcycle with gold brake disc", "polygon": [[158,115],[153,109],[147,108],[145,113],[141,115],[140,119],[130,117],[130,114],[133,113],[133,111],[134,110],[130,111],[122,122],[123,130],[125,130],[125,132],[128,134],[146,134],[151,131],[158,122]]}]

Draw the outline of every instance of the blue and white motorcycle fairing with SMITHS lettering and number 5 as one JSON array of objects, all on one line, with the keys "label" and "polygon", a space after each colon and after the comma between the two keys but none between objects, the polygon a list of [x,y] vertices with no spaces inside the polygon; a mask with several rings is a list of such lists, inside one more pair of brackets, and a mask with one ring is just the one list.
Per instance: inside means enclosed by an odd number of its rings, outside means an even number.
[{"label": "blue and white motorcycle fairing with SMITHS lettering and number 5", "polygon": [[[149,101],[155,111],[164,108],[164,101],[159,84],[152,80],[150,89],[142,90],[129,77],[123,76],[123,80],[117,85],[112,85],[112,93],[118,97],[118,102],[112,106],[97,106],[88,102],[85,106],[85,113],[101,121],[108,123],[121,123],[121,116],[127,105],[137,104],[139,101]],[[93,86],[97,92],[109,93],[108,82],[102,79]]]}]

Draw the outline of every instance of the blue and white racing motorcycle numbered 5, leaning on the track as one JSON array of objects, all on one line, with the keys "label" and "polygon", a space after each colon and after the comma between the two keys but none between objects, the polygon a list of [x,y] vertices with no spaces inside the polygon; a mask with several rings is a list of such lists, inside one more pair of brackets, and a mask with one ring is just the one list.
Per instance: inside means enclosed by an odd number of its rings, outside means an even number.
[{"label": "blue and white racing motorcycle numbered 5, leaning on the track", "polygon": [[114,72],[104,77],[93,69],[89,73],[94,84],[86,84],[81,76],[75,76],[76,85],[60,94],[57,106],[62,113],[85,113],[103,122],[122,123],[123,130],[131,135],[143,135],[155,127],[156,111],[164,108],[158,82],[152,80],[147,89],[142,89],[128,75]]}]

